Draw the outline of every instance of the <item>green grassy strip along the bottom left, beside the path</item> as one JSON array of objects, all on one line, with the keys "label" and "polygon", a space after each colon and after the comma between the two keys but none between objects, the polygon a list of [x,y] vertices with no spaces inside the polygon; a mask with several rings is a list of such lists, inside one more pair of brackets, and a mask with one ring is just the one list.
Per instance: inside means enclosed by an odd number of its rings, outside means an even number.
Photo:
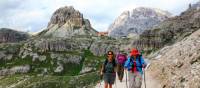
[{"label": "green grassy strip along the bottom left, beside the path", "polygon": [[80,76],[29,76],[12,75],[0,80],[1,87],[15,85],[14,88],[80,88],[94,86],[99,80],[96,72]]}]

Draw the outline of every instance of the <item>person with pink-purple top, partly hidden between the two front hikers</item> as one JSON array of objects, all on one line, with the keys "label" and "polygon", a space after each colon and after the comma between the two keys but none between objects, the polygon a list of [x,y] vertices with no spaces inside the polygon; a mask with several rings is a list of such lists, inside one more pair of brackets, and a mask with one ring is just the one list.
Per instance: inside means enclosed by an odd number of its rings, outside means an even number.
[{"label": "person with pink-purple top, partly hidden between the two front hikers", "polygon": [[127,60],[126,53],[124,51],[119,51],[116,60],[117,60],[117,75],[120,82],[122,82],[124,76],[124,64],[125,61]]}]

